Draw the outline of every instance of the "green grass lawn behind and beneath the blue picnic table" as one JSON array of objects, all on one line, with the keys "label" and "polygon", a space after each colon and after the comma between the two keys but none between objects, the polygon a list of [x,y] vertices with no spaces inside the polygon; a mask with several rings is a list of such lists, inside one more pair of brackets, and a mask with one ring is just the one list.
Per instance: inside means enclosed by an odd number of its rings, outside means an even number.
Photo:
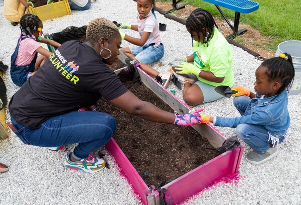
[{"label": "green grass lawn behind and beneath the blue picnic table", "polygon": [[[170,0],[161,1],[172,2]],[[240,23],[248,24],[264,36],[271,37],[272,42],[267,45],[268,48],[274,50],[283,41],[301,40],[301,0],[254,1],[260,4],[259,9],[249,14],[241,14]],[[183,0],[182,2],[205,9],[212,15],[221,17],[213,4],[202,0]],[[234,11],[222,7],[221,9],[229,19],[234,20]]]}]

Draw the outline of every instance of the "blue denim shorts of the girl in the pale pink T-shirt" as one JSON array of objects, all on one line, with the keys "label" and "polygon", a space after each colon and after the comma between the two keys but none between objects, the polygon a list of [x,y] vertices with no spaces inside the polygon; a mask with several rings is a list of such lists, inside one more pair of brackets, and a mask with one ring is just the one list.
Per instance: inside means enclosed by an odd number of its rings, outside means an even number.
[{"label": "blue denim shorts of the girl in the pale pink T-shirt", "polygon": [[152,64],[159,61],[164,56],[164,46],[146,46],[146,47],[133,47],[130,52],[135,56],[140,63]]}]

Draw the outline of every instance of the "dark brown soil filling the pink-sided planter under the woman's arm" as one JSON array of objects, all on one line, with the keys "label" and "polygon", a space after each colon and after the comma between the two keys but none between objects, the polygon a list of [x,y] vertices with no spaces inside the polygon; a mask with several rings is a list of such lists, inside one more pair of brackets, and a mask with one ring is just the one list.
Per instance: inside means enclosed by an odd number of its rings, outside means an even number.
[{"label": "dark brown soil filling the pink-sided planter under the woman's arm", "polygon": [[[141,100],[174,112],[152,91],[142,85],[127,82],[125,86]],[[97,109],[115,117],[117,130],[113,135],[147,184],[170,182],[214,158],[211,144],[191,127],[155,123],[130,116],[101,99]]]}]

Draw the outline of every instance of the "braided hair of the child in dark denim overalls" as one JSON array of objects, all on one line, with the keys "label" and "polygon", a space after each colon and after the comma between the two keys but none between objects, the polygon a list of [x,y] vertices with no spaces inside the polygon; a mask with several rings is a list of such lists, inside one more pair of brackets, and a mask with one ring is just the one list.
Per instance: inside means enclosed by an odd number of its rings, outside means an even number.
[{"label": "braided hair of the child in dark denim overalls", "polygon": [[33,36],[33,33],[38,31],[39,24],[42,21],[36,15],[26,14],[20,19],[20,29],[23,36]]}]

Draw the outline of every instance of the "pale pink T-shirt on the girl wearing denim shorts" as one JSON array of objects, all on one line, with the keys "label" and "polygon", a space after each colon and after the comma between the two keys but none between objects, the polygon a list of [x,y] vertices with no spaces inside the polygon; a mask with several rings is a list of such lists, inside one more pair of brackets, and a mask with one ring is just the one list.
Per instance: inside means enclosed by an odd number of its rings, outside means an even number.
[{"label": "pale pink T-shirt on the girl wearing denim shorts", "polygon": [[140,20],[138,14],[137,23],[138,23],[138,32],[140,36],[142,36],[143,32],[151,33],[146,43],[143,46],[148,46],[149,44],[152,43],[155,43],[155,46],[159,46],[159,44],[161,43],[159,24],[154,14],[152,12],[149,12],[149,15],[142,20]]}]

